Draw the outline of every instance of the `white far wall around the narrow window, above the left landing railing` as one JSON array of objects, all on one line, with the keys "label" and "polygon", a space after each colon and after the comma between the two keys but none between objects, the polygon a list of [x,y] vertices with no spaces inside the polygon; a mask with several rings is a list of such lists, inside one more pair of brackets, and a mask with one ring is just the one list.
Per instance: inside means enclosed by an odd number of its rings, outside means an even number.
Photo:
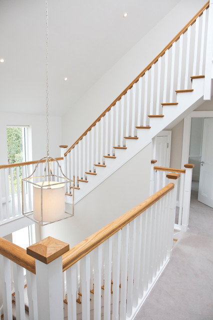
[{"label": "white far wall around the narrow window, above the left landing railing", "polygon": [[[6,125],[30,125],[32,138],[32,160],[46,155],[46,117],[24,113],[0,112],[0,164],[7,163]],[[50,156],[60,156],[61,117],[49,116]]]}]

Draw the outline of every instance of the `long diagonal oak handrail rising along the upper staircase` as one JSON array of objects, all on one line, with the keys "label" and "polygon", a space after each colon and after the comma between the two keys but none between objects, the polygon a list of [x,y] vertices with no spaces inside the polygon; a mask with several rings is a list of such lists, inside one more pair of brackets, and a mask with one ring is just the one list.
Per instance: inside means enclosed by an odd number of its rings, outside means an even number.
[{"label": "long diagonal oak handrail rising along the upper staircase", "polygon": [[116,99],[114,99],[114,101],[96,118],[96,120],[94,122],[92,122],[92,124],[79,136],[79,138],[68,148],[68,150],[66,150],[66,152],[64,153],[64,156],[67,155],[68,152],[70,152],[70,150],[83,138],[84,135],[86,135],[86,133],[88,131],[91,130],[91,128],[101,119],[102,116],[104,116],[106,114],[106,112],[108,112],[111,107],[113,105],[115,105],[115,103],[117,101],[119,101],[121,99],[121,97],[126,94],[126,92],[133,86],[134,83],[136,83],[139,78],[141,76],[143,76],[145,74],[146,71],[148,71],[152,64],[156,63],[157,60],[159,59],[159,57],[163,56],[163,54],[165,53],[165,51],[167,49],[169,49],[172,44],[177,41],[180,37],[181,34],[184,34],[187,31],[187,28],[192,25],[196,18],[200,15],[202,15],[202,12],[207,9],[209,7],[209,1],[207,1],[203,7],[192,17],[192,19],[175,35],[175,37],[164,47],[164,49],[162,49],[162,51],[160,51],[160,53],[136,76],[136,78],[116,97]]}]

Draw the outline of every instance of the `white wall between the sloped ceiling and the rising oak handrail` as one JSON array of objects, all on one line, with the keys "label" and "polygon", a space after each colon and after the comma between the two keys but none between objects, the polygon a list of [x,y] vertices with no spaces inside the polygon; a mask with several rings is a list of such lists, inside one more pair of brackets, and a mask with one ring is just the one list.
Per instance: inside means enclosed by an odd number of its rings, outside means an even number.
[{"label": "white wall between the sloped ceiling and the rising oak handrail", "polygon": [[[62,143],[71,145],[167,45],[206,0],[182,0],[114,64],[62,117]],[[85,52],[86,54],[86,52]]]}]

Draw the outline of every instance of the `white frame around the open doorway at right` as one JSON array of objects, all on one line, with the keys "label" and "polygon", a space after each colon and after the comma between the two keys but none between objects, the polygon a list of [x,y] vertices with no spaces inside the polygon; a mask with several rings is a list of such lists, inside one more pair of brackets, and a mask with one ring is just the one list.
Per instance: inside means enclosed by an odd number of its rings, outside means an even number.
[{"label": "white frame around the open doorway at right", "polygon": [[188,163],[189,146],[190,146],[190,133],[191,133],[191,118],[212,118],[213,111],[192,111],[184,118],[183,124],[183,137],[182,137],[182,157],[181,168],[185,163]]}]

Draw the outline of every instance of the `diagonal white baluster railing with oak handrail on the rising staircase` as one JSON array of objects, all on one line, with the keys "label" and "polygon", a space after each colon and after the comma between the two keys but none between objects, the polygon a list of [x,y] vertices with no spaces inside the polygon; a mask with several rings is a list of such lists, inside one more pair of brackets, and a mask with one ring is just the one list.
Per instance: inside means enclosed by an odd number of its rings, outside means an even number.
[{"label": "diagonal white baluster railing with oak handrail on the rising staircase", "polygon": [[75,187],[104,167],[105,158],[115,158],[116,148],[125,149],[126,139],[137,138],[137,130],[149,129],[151,117],[163,117],[164,105],[177,104],[175,89],[190,92],[190,80],[204,77],[211,63],[207,26],[213,29],[208,8],[209,1],[66,150],[66,174],[75,177]]}]

